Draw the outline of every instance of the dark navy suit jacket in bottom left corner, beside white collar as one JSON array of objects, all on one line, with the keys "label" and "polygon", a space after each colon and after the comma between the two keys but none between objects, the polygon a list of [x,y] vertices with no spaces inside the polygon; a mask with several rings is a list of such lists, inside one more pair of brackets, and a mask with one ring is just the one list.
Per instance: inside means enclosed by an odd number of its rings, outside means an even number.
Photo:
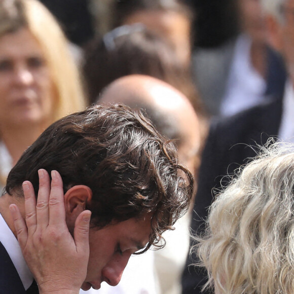
[{"label": "dark navy suit jacket in bottom left corner, beside white collar", "polygon": [[14,264],[5,247],[0,242],[0,292],[1,294],[25,294]]}]

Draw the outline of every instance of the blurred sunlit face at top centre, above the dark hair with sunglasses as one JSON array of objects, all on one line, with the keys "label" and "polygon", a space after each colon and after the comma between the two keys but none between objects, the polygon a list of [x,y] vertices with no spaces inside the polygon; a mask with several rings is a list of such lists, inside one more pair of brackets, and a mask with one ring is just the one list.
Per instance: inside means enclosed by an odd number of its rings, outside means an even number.
[{"label": "blurred sunlit face at top centre, above the dark hair with sunglasses", "polygon": [[183,62],[190,62],[190,20],[173,11],[137,11],[126,17],[124,24],[143,23],[148,29],[166,39]]}]

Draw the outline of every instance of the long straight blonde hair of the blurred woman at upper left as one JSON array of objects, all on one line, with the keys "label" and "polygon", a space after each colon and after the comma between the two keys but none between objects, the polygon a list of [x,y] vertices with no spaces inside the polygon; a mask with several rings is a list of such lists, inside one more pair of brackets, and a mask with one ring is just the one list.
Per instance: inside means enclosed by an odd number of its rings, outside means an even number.
[{"label": "long straight blonde hair of the blurred woman at upper left", "polygon": [[86,106],[81,77],[68,42],[53,15],[37,0],[0,0],[0,38],[27,28],[43,49],[53,85],[52,122]]}]

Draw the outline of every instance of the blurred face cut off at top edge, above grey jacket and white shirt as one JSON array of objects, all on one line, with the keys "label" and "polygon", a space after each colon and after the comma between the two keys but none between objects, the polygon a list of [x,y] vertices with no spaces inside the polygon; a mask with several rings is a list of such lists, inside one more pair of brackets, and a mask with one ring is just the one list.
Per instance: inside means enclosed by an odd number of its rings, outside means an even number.
[{"label": "blurred face cut off at top edge, above grey jacket and white shirt", "polygon": [[260,0],[239,0],[242,30],[254,41],[266,41],[265,20]]}]

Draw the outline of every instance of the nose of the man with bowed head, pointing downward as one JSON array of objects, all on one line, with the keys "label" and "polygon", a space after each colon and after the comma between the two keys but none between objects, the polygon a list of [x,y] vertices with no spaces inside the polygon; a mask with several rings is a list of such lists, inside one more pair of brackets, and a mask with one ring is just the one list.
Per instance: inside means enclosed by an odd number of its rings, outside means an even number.
[{"label": "nose of the man with bowed head, pointing downward", "polygon": [[102,270],[103,280],[111,285],[116,286],[124,272],[124,269],[129,261],[130,254],[124,253],[122,256],[115,256]]}]

